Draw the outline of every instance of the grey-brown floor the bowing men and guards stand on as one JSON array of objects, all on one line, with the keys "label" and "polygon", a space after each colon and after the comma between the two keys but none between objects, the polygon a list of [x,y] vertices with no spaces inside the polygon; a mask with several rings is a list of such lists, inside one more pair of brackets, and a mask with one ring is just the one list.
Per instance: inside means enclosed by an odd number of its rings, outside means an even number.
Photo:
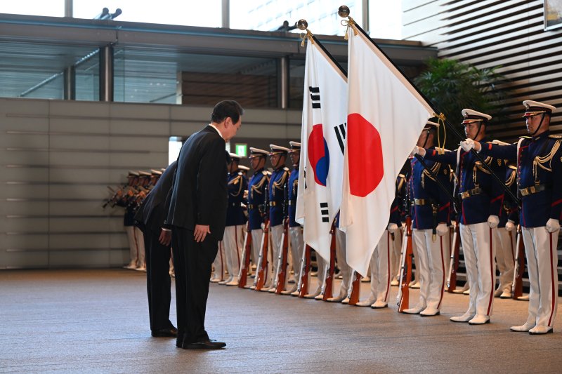
[{"label": "grey-brown floor the bowing men and guards stand on", "polygon": [[397,291],[375,310],[212,284],[207,330],[226,349],[185,351],[150,337],[145,273],[1,271],[0,372],[562,372],[561,314],[554,334],[532,336],[509,331],[527,302],[496,299],[492,323],[469,326],[449,321],[464,295],[445,294],[441,315],[422,318],[396,312]]}]

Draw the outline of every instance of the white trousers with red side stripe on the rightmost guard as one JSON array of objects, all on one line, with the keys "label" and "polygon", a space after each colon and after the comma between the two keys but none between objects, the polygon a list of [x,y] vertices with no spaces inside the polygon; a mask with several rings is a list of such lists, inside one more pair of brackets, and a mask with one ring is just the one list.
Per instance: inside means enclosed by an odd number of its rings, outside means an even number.
[{"label": "white trousers with red side stripe on the rightmost guard", "polygon": [[529,272],[528,323],[554,326],[558,307],[558,232],[545,227],[523,227],[523,242]]}]

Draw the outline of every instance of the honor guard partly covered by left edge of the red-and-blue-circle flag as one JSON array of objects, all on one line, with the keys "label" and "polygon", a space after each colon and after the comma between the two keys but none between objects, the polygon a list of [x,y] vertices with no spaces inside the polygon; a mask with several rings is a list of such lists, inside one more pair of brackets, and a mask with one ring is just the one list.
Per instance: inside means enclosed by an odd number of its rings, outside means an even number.
[{"label": "honor guard partly covered by left edge of the red-and-blue-circle flag", "polygon": [[[293,262],[293,272],[294,276],[299,275],[299,269],[301,268],[301,258],[303,257],[304,251],[304,239],[303,239],[303,227],[296,223],[294,220],[296,213],[296,194],[299,191],[299,162],[301,160],[301,143],[299,142],[289,142],[291,149],[289,150],[289,157],[293,164],[293,170],[291,175],[289,175],[289,183],[287,184],[287,200],[289,201],[288,213],[289,213],[289,236],[291,238],[291,255]],[[289,289],[282,291],[284,295],[289,295],[296,291],[297,282],[294,282],[294,286]]]}]

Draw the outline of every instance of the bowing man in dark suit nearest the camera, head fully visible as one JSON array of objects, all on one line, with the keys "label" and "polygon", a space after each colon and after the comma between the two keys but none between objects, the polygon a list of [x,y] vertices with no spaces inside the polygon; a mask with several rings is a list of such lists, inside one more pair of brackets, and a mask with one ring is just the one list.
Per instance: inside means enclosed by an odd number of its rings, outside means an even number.
[{"label": "bowing man in dark suit nearest the camera, head fully visible", "polygon": [[211,123],[190,136],[178,156],[166,223],[176,267],[177,347],[217,349],[209,340],[205,309],[211,263],[226,225],[226,142],[240,128],[244,109],[232,100],[215,105]]}]

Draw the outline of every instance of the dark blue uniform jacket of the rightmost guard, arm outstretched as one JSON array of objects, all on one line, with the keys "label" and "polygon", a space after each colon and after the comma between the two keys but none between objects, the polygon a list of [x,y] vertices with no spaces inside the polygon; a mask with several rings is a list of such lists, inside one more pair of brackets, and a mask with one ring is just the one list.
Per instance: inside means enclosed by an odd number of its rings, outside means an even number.
[{"label": "dark blue uniform jacket of the rightmost guard, arm outstretched", "polygon": [[518,159],[518,189],[544,185],[543,191],[521,196],[520,223],[523,227],[542,227],[549,218],[561,220],[562,212],[562,139],[546,131],[517,144],[482,145],[481,154],[490,154],[516,161]]}]

